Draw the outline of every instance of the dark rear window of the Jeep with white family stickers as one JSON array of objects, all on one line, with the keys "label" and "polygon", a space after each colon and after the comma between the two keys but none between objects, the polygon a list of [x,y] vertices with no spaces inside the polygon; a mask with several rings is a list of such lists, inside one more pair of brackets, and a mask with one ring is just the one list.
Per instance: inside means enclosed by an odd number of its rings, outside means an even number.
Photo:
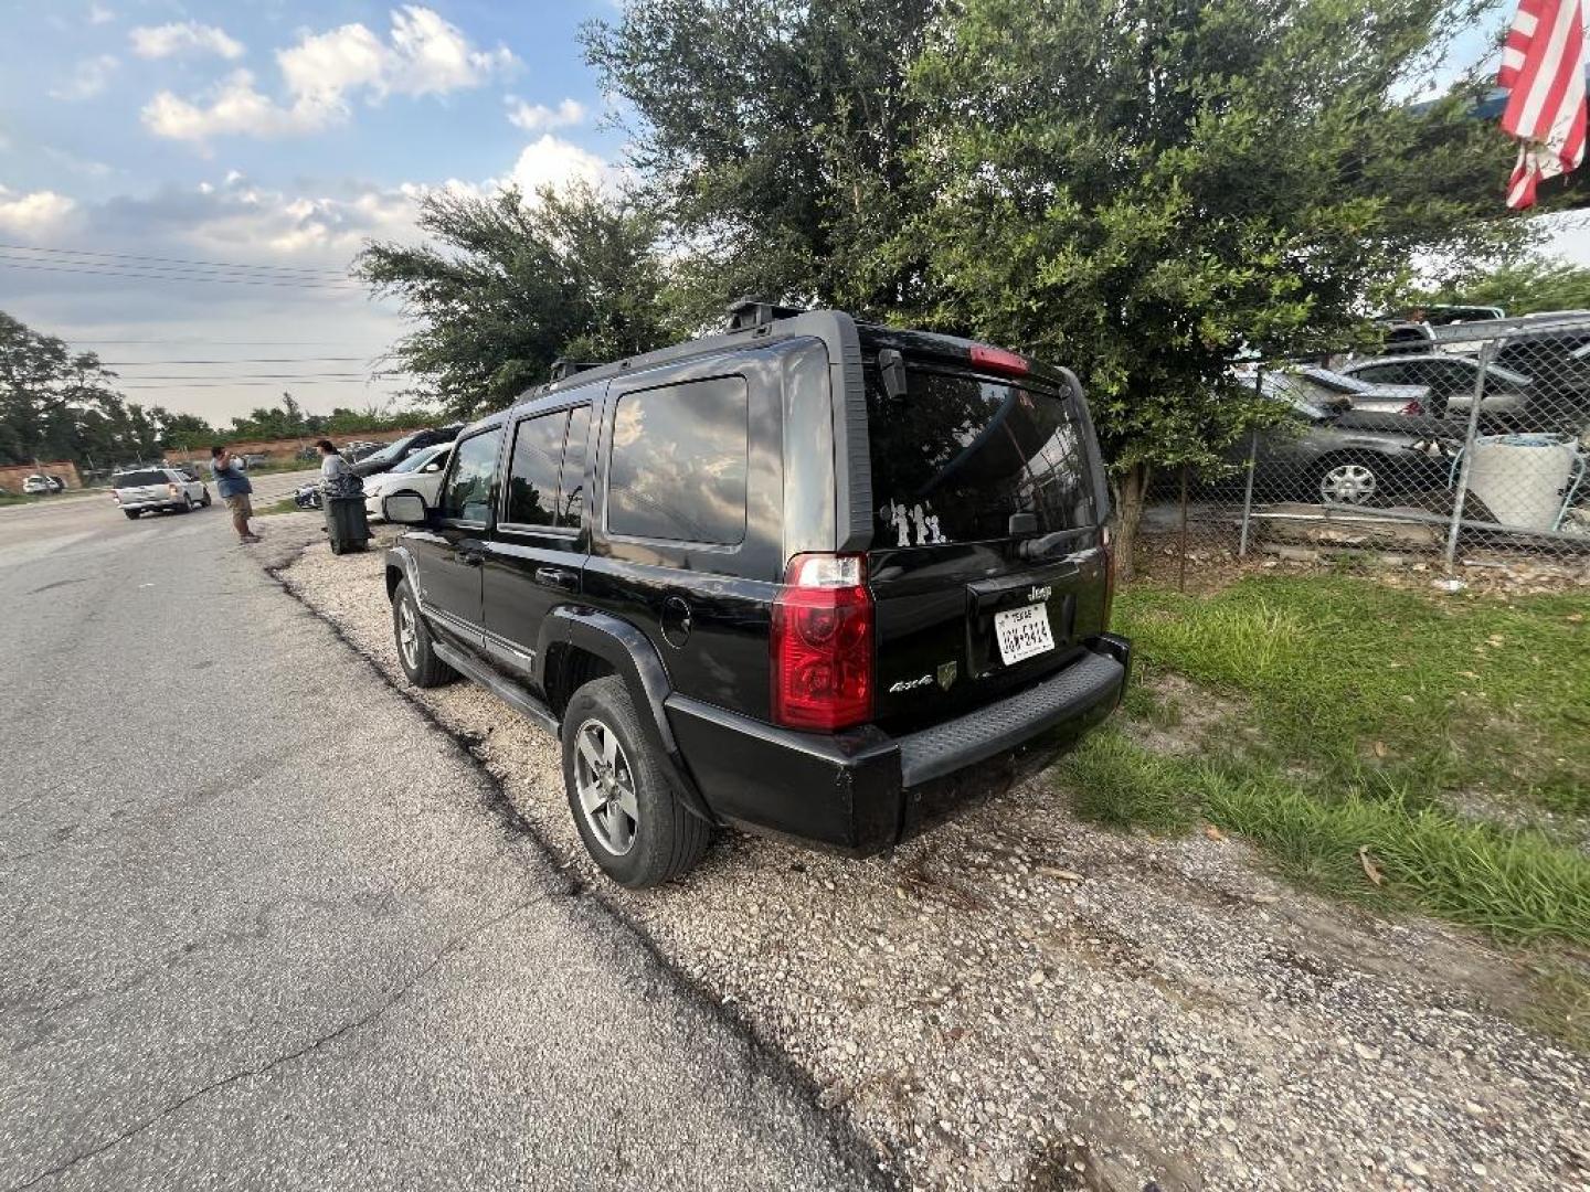
[{"label": "dark rear window of the Jeep with white family stickers", "polygon": [[890,397],[876,369],[867,378],[879,545],[1003,539],[1013,513],[1032,513],[1040,534],[1097,524],[1068,397],[922,367]]}]

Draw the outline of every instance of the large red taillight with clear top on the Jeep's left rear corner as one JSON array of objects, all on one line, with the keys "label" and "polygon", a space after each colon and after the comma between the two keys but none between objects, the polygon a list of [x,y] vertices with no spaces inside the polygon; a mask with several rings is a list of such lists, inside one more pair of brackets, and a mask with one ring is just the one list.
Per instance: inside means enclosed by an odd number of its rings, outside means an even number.
[{"label": "large red taillight with clear top on the Jeep's left rear corner", "polygon": [[773,601],[773,720],[833,733],[873,715],[873,596],[860,555],[797,555]]}]

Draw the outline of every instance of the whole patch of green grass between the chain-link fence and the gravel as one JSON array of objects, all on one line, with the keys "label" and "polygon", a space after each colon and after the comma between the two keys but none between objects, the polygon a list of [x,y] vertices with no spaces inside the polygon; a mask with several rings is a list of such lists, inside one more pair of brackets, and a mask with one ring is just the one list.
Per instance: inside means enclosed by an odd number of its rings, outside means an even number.
[{"label": "whole patch of green grass between the chain-link fence and the gravel", "polygon": [[1590,947],[1590,598],[1262,575],[1212,596],[1137,585],[1116,610],[1143,666],[1124,731],[1056,769],[1080,815],[1208,822],[1321,892]]}]

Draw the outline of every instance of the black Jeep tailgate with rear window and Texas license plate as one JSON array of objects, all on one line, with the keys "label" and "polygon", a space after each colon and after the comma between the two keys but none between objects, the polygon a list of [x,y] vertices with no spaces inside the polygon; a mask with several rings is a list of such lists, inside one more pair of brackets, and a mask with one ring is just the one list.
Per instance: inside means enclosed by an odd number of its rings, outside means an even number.
[{"label": "black Jeep tailgate with rear window and Texas license plate", "polygon": [[1097,445],[1054,381],[906,356],[867,369],[879,722],[999,698],[1105,629]]}]

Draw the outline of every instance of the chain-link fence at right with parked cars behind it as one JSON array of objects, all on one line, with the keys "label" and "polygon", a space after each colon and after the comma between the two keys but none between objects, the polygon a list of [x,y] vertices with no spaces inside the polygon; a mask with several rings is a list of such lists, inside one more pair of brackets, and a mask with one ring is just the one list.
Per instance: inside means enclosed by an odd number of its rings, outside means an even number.
[{"label": "chain-link fence at right with parked cars behind it", "polygon": [[1220,475],[1156,478],[1140,532],[1151,555],[1590,567],[1590,312],[1409,321],[1379,351],[1242,380],[1277,421]]}]

